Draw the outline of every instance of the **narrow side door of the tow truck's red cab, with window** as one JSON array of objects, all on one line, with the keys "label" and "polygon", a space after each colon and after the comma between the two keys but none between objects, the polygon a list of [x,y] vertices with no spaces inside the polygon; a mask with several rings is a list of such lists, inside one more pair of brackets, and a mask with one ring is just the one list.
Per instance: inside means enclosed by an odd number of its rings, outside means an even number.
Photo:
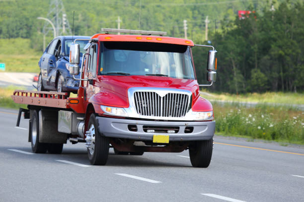
[{"label": "narrow side door of the tow truck's red cab, with window", "polygon": [[84,70],[84,78],[89,79],[89,81],[84,81],[83,86],[86,88],[86,100],[89,100],[95,94],[95,81],[97,73],[97,54],[98,45],[93,43],[88,50],[86,55],[86,69]]}]

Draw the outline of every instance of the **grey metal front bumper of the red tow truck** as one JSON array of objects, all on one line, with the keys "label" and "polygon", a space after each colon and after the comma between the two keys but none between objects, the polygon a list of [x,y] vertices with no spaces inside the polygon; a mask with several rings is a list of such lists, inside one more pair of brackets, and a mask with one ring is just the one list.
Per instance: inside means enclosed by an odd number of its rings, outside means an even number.
[{"label": "grey metal front bumper of the red tow truck", "polygon": [[[99,132],[106,137],[131,140],[153,140],[153,135],[169,135],[169,141],[210,140],[215,133],[215,121],[144,121],[109,117],[96,117]],[[130,131],[128,125],[136,125],[137,131]],[[143,126],[178,126],[177,133],[147,133]],[[193,127],[192,133],[184,133],[185,127]]]}]

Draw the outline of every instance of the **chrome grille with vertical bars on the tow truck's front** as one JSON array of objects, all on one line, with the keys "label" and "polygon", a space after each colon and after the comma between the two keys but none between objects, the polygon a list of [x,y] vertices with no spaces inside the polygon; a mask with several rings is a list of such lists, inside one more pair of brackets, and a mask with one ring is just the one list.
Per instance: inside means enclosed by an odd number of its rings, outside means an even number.
[{"label": "chrome grille with vertical bars on the tow truck's front", "polygon": [[160,97],[155,92],[134,92],[138,114],[157,117],[184,117],[189,107],[187,94],[168,93]]}]

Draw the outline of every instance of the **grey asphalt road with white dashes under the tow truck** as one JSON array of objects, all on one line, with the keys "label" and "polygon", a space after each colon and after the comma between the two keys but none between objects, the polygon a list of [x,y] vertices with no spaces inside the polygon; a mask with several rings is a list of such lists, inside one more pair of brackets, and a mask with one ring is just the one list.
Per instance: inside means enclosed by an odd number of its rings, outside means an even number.
[{"label": "grey asphalt road with white dashes under the tow truck", "polygon": [[114,155],[90,166],[83,143],[32,154],[28,120],[0,108],[0,202],[304,202],[304,149],[215,137],[208,168],[188,151]]}]

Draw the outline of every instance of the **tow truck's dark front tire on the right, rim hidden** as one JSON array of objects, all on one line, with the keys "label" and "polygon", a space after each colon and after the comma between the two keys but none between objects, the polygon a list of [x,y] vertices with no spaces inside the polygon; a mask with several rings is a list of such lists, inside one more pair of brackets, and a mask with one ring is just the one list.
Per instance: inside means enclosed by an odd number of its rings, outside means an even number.
[{"label": "tow truck's dark front tire on the right, rim hidden", "polygon": [[207,168],[210,164],[213,150],[213,139],[197,141],[190,145],[189,155],[193,167]]}]

